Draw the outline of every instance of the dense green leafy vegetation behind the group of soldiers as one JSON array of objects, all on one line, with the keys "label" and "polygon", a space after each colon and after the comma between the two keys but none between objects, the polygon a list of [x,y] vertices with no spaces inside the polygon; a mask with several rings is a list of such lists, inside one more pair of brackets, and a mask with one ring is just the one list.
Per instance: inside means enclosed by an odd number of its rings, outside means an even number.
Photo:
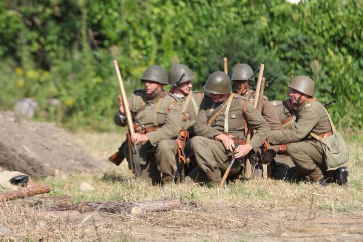
[{"label": "dense green leafy vegetation behind the group of soldiers", "polygon": [[[151,64],[197,63],[202,84],[238,63],[256,69],[284,99],[294,76],[311,76],[338,128],[361,128],[363,14],[360,0],[4,0],[0,1],[0,109],[31,97],[36,119],[64,128],[113,131],[120,92]],[[57,99],[57,105],[50,100]]]}]

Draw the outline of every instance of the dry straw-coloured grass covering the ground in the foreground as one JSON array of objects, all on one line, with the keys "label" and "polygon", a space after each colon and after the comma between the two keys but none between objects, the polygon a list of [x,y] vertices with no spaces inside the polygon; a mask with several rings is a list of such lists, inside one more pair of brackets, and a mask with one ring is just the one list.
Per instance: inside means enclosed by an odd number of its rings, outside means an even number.
[{"label": "dry straw-coloured grass covering the ground in the foreground", "polygon": [[[223,189],[169,185],[152,187],[133,177],[123,162],[110,166],[124,135],[76,134],[79,145],[105,162],[98,174],[47,178],[47,196],[69,195],[79,201],[144,202],[179,198],[168,212],[42,212],[26,206],[0,210],[5,241],[362,241],[363,151],[350,142],[350,187],[237,181]],[[111,180],[114,181],[111,181]],[[80,191],[88,182],[94,191]],[[1,232],[1,229],[4,232]]]}]

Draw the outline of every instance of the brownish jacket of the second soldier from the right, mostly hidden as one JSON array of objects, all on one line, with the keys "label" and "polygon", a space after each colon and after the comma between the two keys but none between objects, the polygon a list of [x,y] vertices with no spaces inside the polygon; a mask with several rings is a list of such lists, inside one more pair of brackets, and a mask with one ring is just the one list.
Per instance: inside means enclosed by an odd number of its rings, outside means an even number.
[{"label": "brownish jacket of the second soldier from the right, mostly hidden", "polygon": [[[256,91],[249,90],[244,94],[244,97],[246,97],[253,105],[254,103],[254,97],[255,97]],[[276,115],[276,112],[271,105],[269,99],[266,96],[263,96],[263,105],[262,105],[262,116],[265,118],[267,123],[270,125],[271,130],[282,130],[281,121]]]}]

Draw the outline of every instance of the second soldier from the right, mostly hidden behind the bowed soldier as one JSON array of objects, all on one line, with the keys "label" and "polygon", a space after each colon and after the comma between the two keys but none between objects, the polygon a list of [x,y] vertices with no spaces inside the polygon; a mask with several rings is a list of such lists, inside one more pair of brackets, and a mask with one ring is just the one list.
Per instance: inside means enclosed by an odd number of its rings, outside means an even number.
[{"label": "second soldier from the right, mostly hidden behind the bowed soldier", "polygon": [[[231,77],[231,80],[234,82],[236,87],[235,93],[240,91],[245,82],[254,74],[252,68],[247,64],[238,64],[234,70]],[[255,76],[252,77],[252,80],[255,80]],[[249,85],[243,92],[242,96],[247,98],[253,105],[255,91],[251,90],[251,85]],[[272,105],[269,102],[269,99],[266,96],[263,96],[263,104],[262,104],[262,116],[265,118],[267,123],[270,125],[271,130],[282,130],[281,122],[278,119]],[[273,157],[276,155],[276,151],[278,146],[270,146],[270,148],[263,154],[262,163],[263,164],[271,164],[273,161]],[[260,155],[260,154],[258,154]]]}]

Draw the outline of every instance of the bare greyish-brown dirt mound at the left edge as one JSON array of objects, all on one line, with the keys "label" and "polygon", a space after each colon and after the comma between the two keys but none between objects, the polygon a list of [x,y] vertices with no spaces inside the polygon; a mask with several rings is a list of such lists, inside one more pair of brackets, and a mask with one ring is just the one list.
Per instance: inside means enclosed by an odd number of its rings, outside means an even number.
[{"label": "bare greyish-brown dirt mound at the left edge", "polygon": [[30,122],[11,111],[0,111],[0,167],[4,170],[36,178],[59,171],[91,173],[102,164],[54,123]]}]

